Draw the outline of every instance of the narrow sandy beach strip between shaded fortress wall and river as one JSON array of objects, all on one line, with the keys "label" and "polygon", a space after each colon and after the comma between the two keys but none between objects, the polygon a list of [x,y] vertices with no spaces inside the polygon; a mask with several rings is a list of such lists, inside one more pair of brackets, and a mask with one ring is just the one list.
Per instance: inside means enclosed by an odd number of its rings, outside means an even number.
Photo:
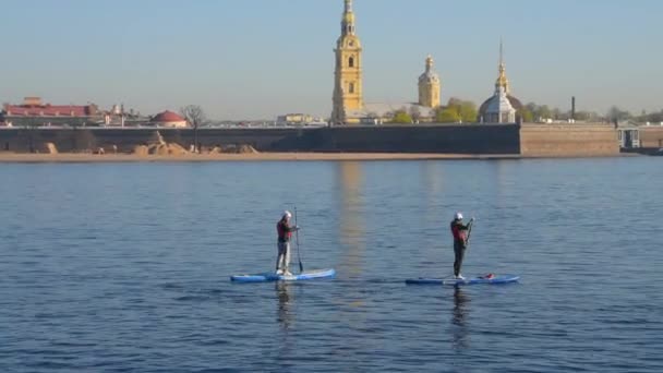
[{"label": "narrow sandy beach strip between shaded fortress wall and river", "polygon": [[16,154],[0,153],[0,163],[186,163],[186,161],[318,161],[318,160],[420,160],[420,159],[519,159],[519,155],[402,154],[402,153],[256,153],[256,154]]}]

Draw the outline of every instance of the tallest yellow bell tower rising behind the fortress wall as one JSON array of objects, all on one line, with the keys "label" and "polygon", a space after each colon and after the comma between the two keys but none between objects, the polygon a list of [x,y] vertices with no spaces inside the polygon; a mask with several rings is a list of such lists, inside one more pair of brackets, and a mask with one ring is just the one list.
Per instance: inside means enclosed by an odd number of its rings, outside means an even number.
[{"label": "tallest yellow bell tower rising behind the fortress wall", "polygon": [[332,124],[358,123],[359,118],[349,118],[348,112],[363,109],[362,48],[355,34],[352,0],[345,0],[341,34],[336,41],[336,67],[334,72],[334,98]]}]

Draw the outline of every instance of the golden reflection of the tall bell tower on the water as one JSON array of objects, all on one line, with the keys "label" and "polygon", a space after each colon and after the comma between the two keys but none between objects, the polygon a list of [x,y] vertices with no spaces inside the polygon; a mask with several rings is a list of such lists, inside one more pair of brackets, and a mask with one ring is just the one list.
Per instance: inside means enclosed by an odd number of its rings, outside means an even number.
[{"label": "golden reflection of the tall bell tower on the water", "polygon": [[364,221],[362,203],[362,170],[357,161],[338,164],[339,190],[339,237],[345,248],[341,258],[341,270],[349,276],[359,276],[362,272],[364,255]]}]

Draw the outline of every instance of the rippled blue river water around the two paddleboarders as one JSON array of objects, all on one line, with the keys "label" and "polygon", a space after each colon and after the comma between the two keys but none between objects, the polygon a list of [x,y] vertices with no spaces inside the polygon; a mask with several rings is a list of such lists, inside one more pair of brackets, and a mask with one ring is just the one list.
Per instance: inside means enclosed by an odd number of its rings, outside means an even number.
[{"label": "rippled blue river water around the two paddleboarders", "polygon": [[[2,372],[663,371],[660,158],[0,169]],[[231,284],[296,205],[337,278]],[[463,274],[519,284],[405,285],[456,210]]]}]

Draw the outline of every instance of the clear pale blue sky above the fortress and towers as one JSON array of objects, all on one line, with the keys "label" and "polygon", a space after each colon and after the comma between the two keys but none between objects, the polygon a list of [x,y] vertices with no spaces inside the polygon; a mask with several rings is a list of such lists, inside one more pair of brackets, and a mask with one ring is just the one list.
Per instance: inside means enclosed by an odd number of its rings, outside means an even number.
[{"label": "clear pale blue sky above the fortress and towers", "polygon": [[[660,0],[355,0],[366,101],[412,101],[431,53],[480,104],[499,37],[515,96],[568,109],[663,108]],[[332,111],[342,0],[3,0],[0,100],[201,105],[215,119]]]}]

